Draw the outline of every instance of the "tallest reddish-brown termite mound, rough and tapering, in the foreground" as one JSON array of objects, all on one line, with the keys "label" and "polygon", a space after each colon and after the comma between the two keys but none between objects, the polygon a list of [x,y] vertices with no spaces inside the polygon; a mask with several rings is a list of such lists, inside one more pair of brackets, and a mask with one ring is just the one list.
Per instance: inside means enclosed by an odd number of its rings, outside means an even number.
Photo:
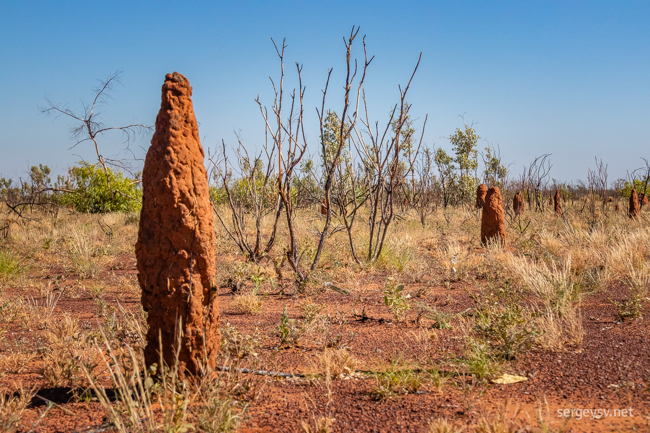
[{"label": "tallest reddish-brown termite mound, rough and tapering, in the foreground", "polygon": [[148,313],[146,363],[160,362],[160,347],[164,361],[174,362],[180,323],[181,374],[199,373],[204,354],[214,367],[220,345],[213,208],[191,96],[187,78],[177,72],[165,76],[142,171],[135,244],[142,306]]}]

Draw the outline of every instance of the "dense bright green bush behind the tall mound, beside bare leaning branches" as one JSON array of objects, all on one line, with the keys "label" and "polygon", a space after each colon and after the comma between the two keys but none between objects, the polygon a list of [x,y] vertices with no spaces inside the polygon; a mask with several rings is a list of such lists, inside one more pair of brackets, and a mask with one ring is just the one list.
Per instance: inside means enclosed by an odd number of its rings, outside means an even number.
[{"label": "dense bright green bush behind the tall mound, beside bare leaning branches", "polygon": [[133,212],[140,209],[136,200],[142,198],[142,189],[124,177],[121,172],[85,161],[68,169],[68,176],[59,177],[58,186],[65,189],[61,196],[64,206],[85,213]]}]

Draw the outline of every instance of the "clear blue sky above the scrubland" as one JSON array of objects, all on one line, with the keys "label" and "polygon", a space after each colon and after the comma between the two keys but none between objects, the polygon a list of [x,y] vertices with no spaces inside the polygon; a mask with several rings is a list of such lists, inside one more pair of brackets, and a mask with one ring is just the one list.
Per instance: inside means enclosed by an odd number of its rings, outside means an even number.
[{"label": "clear blue sky above the scrubland", "polygon": [[[49,164],[55,173],[81,157],[68,150],[67,118],[43,116],[45,96],[81,107],[96,79],[123,70],[123,85],[106,107],[105,123],[153,125],[165,73],[185,74],[205,148],[233,129],[251,146],[263,137],[253,99],[270,105],[268,75],[278,62],[270,38],[287,38],[291,65],[304,65],[309,138],[317,144],[314,107],[326,72],[330,108],[339,110],[343,36],[352,25],[375,55],[366,92],[372,114],[385,121],[422,51],[409,102],[429,115],[429,146],[449,150],[448,137],[476,122],[487,142],[521,172],[552,153],[552,177],[586,179],[593,158],[609,164],[610,180],[650,157],[650,2],[646,1],[3,1],[0,14],[0,176],[23,176]],[[360,38],[359,38],[360,42]],[[357,45],[360,48],[360,44]],[[361,51],[357,51],[361,55]],[[419,125],[419,124],[418,124]],[[123,147],[119,136],[100,145]],[[150,137],[132,144],[138,157]]]}]

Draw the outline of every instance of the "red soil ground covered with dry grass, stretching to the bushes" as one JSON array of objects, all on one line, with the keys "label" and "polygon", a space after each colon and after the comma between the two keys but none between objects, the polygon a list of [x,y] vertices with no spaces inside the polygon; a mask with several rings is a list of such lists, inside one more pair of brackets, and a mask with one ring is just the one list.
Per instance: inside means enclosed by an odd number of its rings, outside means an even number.
[{"label": "red soil ground covered with dry grass, stretching to the bushes", "polygon": [[[407,206],[378,260],[335,231],[304,283],[284,245],[248,261],[215,217],[222,345],[194,378],[142,367],[137,213],[26,212],[0,243],[0,428],[650,431],[650,216],[563,206],[509,214],[506,246],[482,246],[480,209],[422,227]],[[295,220],[306,255],[320,210]]]}]

